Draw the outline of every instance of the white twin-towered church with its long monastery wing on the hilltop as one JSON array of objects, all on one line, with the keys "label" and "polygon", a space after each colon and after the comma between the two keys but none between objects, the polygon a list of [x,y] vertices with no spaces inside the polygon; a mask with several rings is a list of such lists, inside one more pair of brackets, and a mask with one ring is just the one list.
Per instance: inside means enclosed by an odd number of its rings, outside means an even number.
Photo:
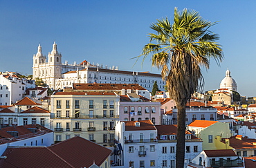
[{"label": "white twin-towered church with its long monastery wing on the hilltop", "polygon": [[47,59],[39,44],[37,54],[33,56],[33,78],[37,77],[54,89],[71,87],[73,83],[140,84],[148,91],[152,91],[154,81],[162,91],[165,86],[160,74],[120,71],[115,66],[103,67],[86,60],[80,64],[68,64],[67,61],[63,64],[62,54],[57,51],[55,42]]}]

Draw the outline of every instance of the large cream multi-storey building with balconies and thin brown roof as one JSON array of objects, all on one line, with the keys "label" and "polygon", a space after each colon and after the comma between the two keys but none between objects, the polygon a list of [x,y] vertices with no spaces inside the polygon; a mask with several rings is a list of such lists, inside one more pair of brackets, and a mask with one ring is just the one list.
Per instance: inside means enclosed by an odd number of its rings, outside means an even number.
[{"label": "large cream multi-storey building with balconies and thin brown roof", "polygon": [[114,142],[120,96],[104,92],[57,92],[51,95],[55,142],[81,136],[103,146]]}]

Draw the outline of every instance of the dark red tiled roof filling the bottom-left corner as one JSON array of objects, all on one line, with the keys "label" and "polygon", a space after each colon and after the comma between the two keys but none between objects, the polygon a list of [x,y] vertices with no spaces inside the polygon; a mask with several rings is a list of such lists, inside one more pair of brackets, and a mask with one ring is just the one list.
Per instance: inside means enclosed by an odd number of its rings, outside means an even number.
[{"label": "dark red tiled roof filling the bottom-left corner", "polygon": [[47,147],[8,147],[0,167],[73,167]]}]

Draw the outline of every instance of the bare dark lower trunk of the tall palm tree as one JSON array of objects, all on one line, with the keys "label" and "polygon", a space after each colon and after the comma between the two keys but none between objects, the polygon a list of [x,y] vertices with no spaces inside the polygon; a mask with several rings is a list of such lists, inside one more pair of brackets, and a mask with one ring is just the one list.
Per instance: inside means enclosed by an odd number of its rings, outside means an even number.
[{"label": "bare dark lower trunk of the tall palm tree", "polygon": [[185,158],[185,106],[178,105],[177,109],[176,168],[183,168]]}]

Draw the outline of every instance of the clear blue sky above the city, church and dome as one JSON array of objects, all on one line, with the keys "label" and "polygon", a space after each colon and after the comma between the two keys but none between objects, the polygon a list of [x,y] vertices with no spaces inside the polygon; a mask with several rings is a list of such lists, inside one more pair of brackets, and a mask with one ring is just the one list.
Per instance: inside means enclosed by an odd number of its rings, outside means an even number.
[{"label": "clear blue sky above the city, church and dome", "polygon": [[172,21],[174,7],[199,11],[204,19],[219,21],[211,30],[219,34],[225,59],[202,68],[205,91],[219,88],[230,69],[241,95],[256,96],[255,1],[0,1],[0,71],[31,74],[37,46],[48,55],[56,40],[62,62],[89,62],[119,66],[120,70],[150,71],[134,59],[140,55],[156,19]]}]

